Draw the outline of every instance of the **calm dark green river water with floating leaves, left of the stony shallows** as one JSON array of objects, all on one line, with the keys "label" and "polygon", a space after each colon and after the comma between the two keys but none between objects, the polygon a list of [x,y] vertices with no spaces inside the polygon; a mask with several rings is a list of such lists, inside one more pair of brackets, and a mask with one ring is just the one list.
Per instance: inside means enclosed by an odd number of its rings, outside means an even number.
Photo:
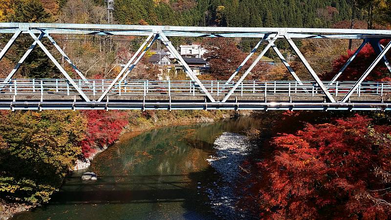
[{"label": "calm dark green river water with floating leaves, left of the stony shallows", "polygon": [[[254,118],[172,126],[121,140],[99,154],[87,170],[68,176],[49,204],[15,220],[215,219],[203,189],[217,178],[205,159],[222,132],[258,127]],[[99,179],[83,182],[95,172]]]}]

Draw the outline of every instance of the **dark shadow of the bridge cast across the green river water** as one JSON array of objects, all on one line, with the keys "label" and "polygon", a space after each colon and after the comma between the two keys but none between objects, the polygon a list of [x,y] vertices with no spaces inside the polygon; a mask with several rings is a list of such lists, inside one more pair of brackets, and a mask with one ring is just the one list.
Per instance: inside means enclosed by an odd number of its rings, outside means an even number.
[{"label": "dark shadow of the bridge cast across the green river water", "polygon": [[[180,203],[186,220],[218,219],[207,204],[205,186],[199,179],[217,181],[213,168],[188,175],[100,176],[98,181],[82,181],[80,176],[69,176],[64,187],[54,195],[50,205],[150,204],[165,206]],[[215,176],[214,176],[215,175]],[[206,182],[205,182],[206,184]],[[197,189],[201,186],[201,189]],[[44,207],[45,210],[47,207]]]}]

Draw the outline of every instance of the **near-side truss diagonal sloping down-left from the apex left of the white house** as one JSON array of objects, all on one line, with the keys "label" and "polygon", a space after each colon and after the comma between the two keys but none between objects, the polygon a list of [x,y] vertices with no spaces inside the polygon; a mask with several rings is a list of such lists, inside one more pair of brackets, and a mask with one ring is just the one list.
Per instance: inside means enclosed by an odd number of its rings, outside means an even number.
[{"label": "near-side truss diagonal sloping down-left from the apex left of the white house", "polygon": [[[150,34],[147,39],[145,40],[145,42],[143,44],[141,44],[140,48],[138,48],[138,50],[134,53],[134,55],[132,56],[132,58],[129,60],[129,62],[124,66],[124,68],[121,70],[121,72],[119,72],[119,74],[117,75],[117,77],[113,80],[113,82],[111,82],[111,84],[109,85],[109,87],[105,90],[105,92],[103,92],[103,94],[101,95],[101,97],[99,97],[98,99],[98,102],[101,102],[105,96],[109,93],[110,89],[113,88],[113,86],[117,83],[117,81],[119,80],[119,78],[121,78],[121,76],[124,74],[124,72],[126,70],[130,70],[130,68],[133,68],[134,66],[136,66],[136,64],[138,63],[138,61],[142,58],[142,56],[145,54],[145,52],[149,49],[149,47],[145,47],[148,42],[150,42],[151,38],[153,37],[153,40],[152,42],[149,44],[149,46],[152,45],[153,41],[156,40],[156,38],[158,37],[158,35],[156,33],[152,33]],[[141,50],[143,50],[143,53],[139,56],[139,58],[136,60],[136,62],[134,64],[133,61],[134,59],[136,59],[136,57],[140,54]],[[131,66],[131,67],[130,67]],[[125,78],[124,78],[125,79]],[[122,81],[122,79],[121,79]]]}]

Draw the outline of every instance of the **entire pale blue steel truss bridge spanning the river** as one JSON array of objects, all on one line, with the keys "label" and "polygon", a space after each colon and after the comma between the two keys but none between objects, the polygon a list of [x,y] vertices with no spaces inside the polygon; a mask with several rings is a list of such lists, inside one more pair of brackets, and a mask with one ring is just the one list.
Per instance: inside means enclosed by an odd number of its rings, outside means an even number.
[{"label": "entire pale blue steel truss bridge spanning the river", "polygon": [[[0,60],[21,35],[34,40],[8,76],[0,79],[0,110],[391,110],[391,83],[365,81],[380,62],[391,72],[386,58],[391,42],[380,44],[383,39],[391,39],[391,30],[0,23],[0,34],[13,35],[1,49]],[[115,79],[100,80],[87,79],[72,63],[53,38],[58,34],[144,36],[146,39]],[[227,81],[200,81],[169,37],[256,38],[259,42]],[[80,79],[68,75],[41,42],[43,38],[51,42]],[[335,77],[324,82],[293,39],[359,39],[363,43]],[[300,80],[277,48],[277,40],[288,42],[313,81]],[[128,80],[130,72],[155,41],[167,47],[190,80]],[[373,47],[376,59],[357,81],[338,81],[366,44]],[[37,45],[62,72],[64,79],[13,78]],[[263,49],[258,51],[259,48]],[[295,81],[246,81],[269,49],[275,51]],[[241,68],[253,55],[257,55],[256,59],[239,77]],[[239,80],[234,80],[237,75]]]}]

